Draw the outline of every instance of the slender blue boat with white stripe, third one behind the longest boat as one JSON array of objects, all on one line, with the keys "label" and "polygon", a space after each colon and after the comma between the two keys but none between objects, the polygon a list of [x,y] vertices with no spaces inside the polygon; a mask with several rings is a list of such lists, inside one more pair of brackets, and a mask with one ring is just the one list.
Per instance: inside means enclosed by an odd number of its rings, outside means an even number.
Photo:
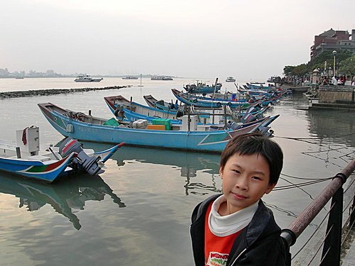
[{"label": "slender blue boat with white stripe, third one behind the longest boat", "polygon": [[229,106],[231,109],[246,109],[252,104],[245,100],[222,100],[213,99],[201,96],[194,96],[192,94],[185,94],[184,92],[178,91],[178,89],[171,89],[174,96],[184,104],[192,105],[200,108],[220,108],[221,106]]}]

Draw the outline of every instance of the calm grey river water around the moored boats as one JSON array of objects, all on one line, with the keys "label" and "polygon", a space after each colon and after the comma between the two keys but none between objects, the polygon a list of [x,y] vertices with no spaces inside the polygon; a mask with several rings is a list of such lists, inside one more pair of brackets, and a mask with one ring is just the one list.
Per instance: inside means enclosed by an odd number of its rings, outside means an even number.
[{"label": "calm grey river water around the moored boats", "polygon": [[[206,79],[205,79],[206,80]],[[170,89],[195,79],[173,81],[104,78],[77,84],[72,78],[0,79],[0,92],[132,85],[84,93],[0,100],[0,138],[14,140],[15,131],[40,127],[40,143],[62,140],[45,120],[38,103],[111,118],[104,96],[121,94],[144,104],[143,95],[171,101]],[[214,79],[209,79],[212,84]],[[222,90],[235,91],[234,84]],[[174,99],[175,101],[175,99]],[[285,228],[328,182],[280,189],[327,178],[354,157],[354,112],[305,111],[302,94],[284,97],[268,114],[280,114],[271,126],[285,162],[279,189],[263,197],[280,227]],[[84,143],[97,150],[109,145]],[[106,163],[100,176],[81,175],[57,184],[30,182],[0,172],[1,265],[193,265],[190,214],[194,206],[220,192],[219,155],[124,146]],[[293,254],[315,231],[322,217],[298,238]],[[317,247],[315,247],[317,248]],[[302,251],[300,255],[302,256]],[[293,260],[296,265],[297,257]]]}]

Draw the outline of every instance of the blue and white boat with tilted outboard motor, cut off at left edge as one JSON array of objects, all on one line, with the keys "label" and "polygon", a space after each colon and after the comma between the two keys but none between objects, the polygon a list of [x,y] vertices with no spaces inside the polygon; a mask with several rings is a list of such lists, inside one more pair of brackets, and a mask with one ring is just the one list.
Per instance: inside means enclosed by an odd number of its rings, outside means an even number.
[{"label": "blue and white boat with tilted outboard motor, cut off at left edge", "polygon": [[121,145],[95,153],[83,149],[77,140],[66,138],[59,148],[40,150],[39,128],[31,126],[16,131],[16,142],[0,140],[0,170],[48,183],[79,171],[101,174],[104,162]]}]

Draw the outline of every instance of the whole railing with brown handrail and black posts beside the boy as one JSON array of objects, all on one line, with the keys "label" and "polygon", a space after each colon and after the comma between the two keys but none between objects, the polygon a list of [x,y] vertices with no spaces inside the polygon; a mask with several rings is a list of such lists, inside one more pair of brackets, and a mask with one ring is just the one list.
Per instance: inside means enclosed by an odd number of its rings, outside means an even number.
[{"label": "whole railing with brown handrail and black posts beside the boy", "polygon": [[[330,199],[332,202],[330,204],[329,216],[327,221],[327,231],[325,233],[325,238],[323,242],[322,256],[319,265],[331,265],[339,266],[341,257],[341,246],[342,246],[342,220],[343,220],[343,201],[344,201],[344,189],[343,184],[346,179],[355,170],[355,159],[352,160],[349,165],[347,165],[342,172],[336,174],[332,182],[330,182],[327,187],[317,196],[317,198],[312,201],[312,203],[307,206],[307,208],[302,211],[302,213],[297,216],[295,221],[288,226],[288,228],[283,229],[281,237],[285,240],[284,243],[286,248],[289,250],[290,246],[294,245],[297,237],[305,231],[305,228],[312,222],[312,220],[320,213],[324,206],[328,203]],[[354,226],[355,221],[355,199],[352,197],[352,206],[350,207],[351,214],[346,222],[349,222],[349,227]],[[325,217],[327,218],[327,216]],[[324,218],[324,219],[325,219]],[[312,236],[311,236],[312,237]],[[320,248],[322,248],[320,246]],[[317,250],[318,252],[319,250]],[[313,257],[314,259],[315,257]],[[313,260],[312,259],[312,260]]]}]

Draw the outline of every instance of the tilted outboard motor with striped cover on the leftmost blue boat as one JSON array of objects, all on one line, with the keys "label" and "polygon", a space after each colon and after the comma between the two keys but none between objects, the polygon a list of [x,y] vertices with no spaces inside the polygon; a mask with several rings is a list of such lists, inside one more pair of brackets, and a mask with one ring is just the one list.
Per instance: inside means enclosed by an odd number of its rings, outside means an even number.
[{"label": "tilted outboard motor with striped cover on the leftmost blue boat", "polygon": [[101,157],[89,157],[82,149],[82,143],[68,137],[60,144],[59,154],[64,158],[71,153],[77,153],[77,157],[72,162],[80,169],[85,170],[91,175],[95,175],[101,170],[99,166]]}]

